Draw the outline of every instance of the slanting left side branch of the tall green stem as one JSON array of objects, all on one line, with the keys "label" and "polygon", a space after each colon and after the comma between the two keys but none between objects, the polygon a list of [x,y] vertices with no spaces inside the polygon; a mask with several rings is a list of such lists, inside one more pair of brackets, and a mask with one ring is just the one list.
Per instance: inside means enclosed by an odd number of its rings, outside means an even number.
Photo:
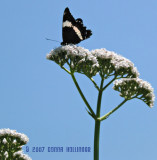
[{"label": "slanting left side branch of the tall green stem", "polygon": [[96,115],[95,115],[94,111],[92,110],[91,106],[90,106],[89,103],[87,102],[87,100],[86,100],[83,92],[81,91],[81,89],[80,89],[80,87],[79,87],[79,85],[78,85],[78,83],[77,83],[77,81],[76,81],[76,78],[75,78],[75,76],[74,76],[74,73],[72,73],[72,72],[71,72],[71,77],[72,77],[72,79],[73,79],[73,81],[74,81],[74,83],[75,83],[75,86],[76,86],[78,92],[80,93],[80,95],[81,95],[84,103],[86,104],[87,108],[89,109],[89,111],[90,111],[90,113],[91,113],[91,116],[94,117],[94,119],[96,119]]}]

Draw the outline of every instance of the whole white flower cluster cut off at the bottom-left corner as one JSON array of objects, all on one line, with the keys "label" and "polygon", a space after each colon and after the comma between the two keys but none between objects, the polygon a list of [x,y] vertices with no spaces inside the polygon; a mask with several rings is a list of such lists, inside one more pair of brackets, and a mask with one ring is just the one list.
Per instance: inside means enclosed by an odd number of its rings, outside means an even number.
[{"label": "whole white flower cluster cut off at the bottom-left corner", "polygon": [[[12,159],[14,153],[22,151],[22,146],[25,145],[28,140],[25,134],[18,133],[16,130],[0,129],[0,160],[3,159],[3,157]],[[14,158],[14,160],[27,159],[27,156],[23,156],[23,159]]]}]

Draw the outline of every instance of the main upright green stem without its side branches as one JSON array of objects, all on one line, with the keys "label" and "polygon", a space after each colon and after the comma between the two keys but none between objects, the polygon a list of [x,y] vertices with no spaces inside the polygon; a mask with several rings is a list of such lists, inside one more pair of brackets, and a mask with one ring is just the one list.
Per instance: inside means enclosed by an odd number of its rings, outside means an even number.
[{"label": "main upright green stem without its side branches", "polygon": [[[103,83],[104,78],[101,80],[101,85],[99,89],[98,101],[97,101],[97,112],[96,117],[100,117],[100,109],[101,109],[101,99],[103,93]],[[100,136],[100,121],[95,120],[95,133],[94,133],[94,160],[99,160],[99,136]]]}]

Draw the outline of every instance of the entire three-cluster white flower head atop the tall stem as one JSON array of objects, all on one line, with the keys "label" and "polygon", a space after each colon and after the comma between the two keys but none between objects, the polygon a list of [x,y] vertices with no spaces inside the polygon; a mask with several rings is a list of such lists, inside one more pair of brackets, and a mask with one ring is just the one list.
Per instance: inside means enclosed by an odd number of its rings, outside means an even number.
[{"label": "entire three-cluster white flower head atop the tall stem", "polygon": [[[92,77],[99,73],[103,78],[114,75],[114,89],[121,92],[126,99],[133,97],[143,100],[148,106],[154,105],[154,93],[151,85],[139,79],[139,72],[134,64],[121,55],[106,49],[95,49],[91,52],[76,45],[65,45],[52,50],[47,59],[55,61],[61,67],[66,63],[73,72]],[[139,97],[141,96],[141,97]]]}]

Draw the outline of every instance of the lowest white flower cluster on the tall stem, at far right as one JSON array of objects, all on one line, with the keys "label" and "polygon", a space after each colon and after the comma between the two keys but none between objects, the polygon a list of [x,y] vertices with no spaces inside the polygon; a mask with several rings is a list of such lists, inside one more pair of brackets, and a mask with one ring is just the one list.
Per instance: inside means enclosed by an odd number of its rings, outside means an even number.
[{"label": "lowest white flower cluster on the tall stem, at far right", "polygon": [[149,107],[153,107],[154,105],[154,89],[150,83],[140,78],[116,80],[113,89],[119,91],[120,96],[125,99],[138,98],[144,101]]}]

